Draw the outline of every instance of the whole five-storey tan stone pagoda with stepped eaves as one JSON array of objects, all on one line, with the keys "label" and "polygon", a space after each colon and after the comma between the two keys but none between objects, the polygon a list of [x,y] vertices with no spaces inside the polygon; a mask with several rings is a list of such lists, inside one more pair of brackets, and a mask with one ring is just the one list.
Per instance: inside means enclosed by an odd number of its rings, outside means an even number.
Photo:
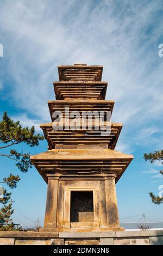
[{"label": "whole five-storey tan stone pagoda with stepped eaves", "polygon": [[[54,82],[56,100],[48,101],[53,113],[110,111],[114,101],[105,100],[102,66],[59,66]],[[64,113],[65,123],[66,116]],[[96,125],[94,121],[93,125]],[[48,184],[44,231],[124,230],[119,226],[115,183],[133,159],[115,150],[122,124],[111,123],[109,135],[95,129],[53,130],[41,124],[48,151],[31,160]],[[94,127],[95,128],[95,127]]]}]

